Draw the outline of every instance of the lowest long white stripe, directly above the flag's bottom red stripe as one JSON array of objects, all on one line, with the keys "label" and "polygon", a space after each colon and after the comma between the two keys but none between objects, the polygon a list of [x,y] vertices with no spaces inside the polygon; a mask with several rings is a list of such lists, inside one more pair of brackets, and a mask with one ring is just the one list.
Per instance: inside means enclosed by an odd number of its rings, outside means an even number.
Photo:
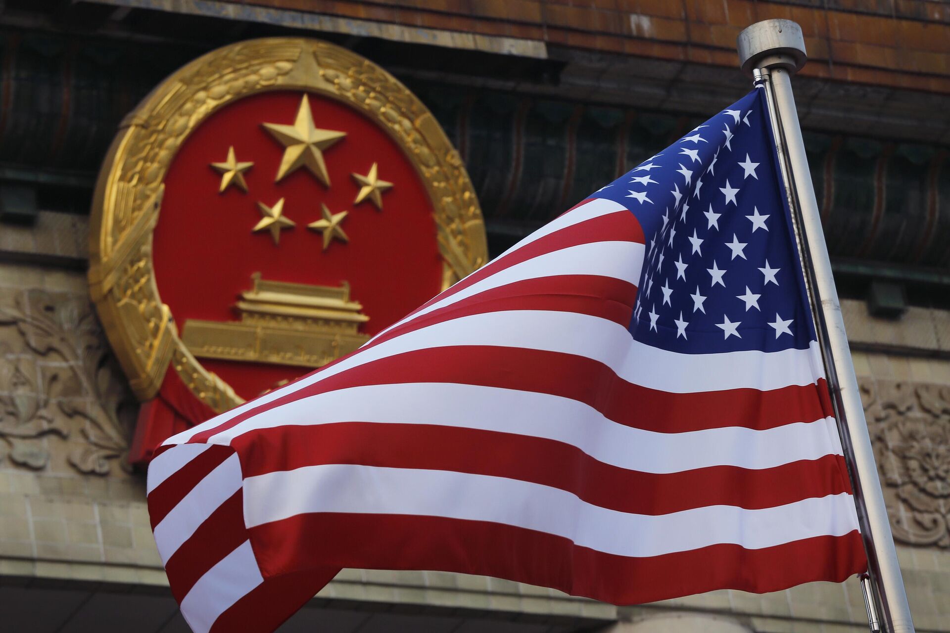
[{"label": "lowest long white stripe, directly above the flag's bottom red stripe", "polygon": [[850,494],[745,510],[706,506],[669,514],[618,512],[541,484],[450,471],[352,464],[308,466],[248,477],[249,528],[306,512],[442,516],[488,521],[570,539],[618,556],[658,556],[733,543],[761,549],[857,529]]}]

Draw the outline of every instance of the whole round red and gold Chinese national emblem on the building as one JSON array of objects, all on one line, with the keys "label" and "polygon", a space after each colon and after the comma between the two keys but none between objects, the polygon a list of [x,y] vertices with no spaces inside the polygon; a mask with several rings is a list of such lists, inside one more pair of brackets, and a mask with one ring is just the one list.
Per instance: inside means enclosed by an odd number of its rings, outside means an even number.
[{"label": "whole round red and gold Chinese national emblem on the building", "polygon": [[485,263],[465,168],[409,90],[275,38],[181,68],[123,122],[90,289],[144,402],[133,458],[343,356]]}]

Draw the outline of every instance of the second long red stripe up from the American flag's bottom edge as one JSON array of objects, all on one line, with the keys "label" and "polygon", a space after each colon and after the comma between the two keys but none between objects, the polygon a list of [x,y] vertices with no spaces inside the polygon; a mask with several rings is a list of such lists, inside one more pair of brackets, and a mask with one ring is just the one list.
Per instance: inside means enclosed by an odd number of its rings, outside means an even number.
[{"label": "second long red stripe up from the American flag's bottom edge", "polygon": [[[602,508],[637,514],[714,505],[754,510],[850,493],[844,458],[834,455],[763,470],[714,466],[657,475],[605,464],[553,439],[372,422],[263,429],[232,445],[242,456],[245,477],[322,464],[452,471],[530,481]],[[786,485],[788,481],[795,486]]]}]

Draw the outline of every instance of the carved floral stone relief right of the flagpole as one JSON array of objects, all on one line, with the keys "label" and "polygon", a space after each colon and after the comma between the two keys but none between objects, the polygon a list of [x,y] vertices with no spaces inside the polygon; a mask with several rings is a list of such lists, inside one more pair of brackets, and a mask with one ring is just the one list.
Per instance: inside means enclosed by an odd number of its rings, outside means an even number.
[{"label": "carved floral stone relief right of the flagpole", "polygon": [[950,547],[950,385],[861,382],[894,538]]}]

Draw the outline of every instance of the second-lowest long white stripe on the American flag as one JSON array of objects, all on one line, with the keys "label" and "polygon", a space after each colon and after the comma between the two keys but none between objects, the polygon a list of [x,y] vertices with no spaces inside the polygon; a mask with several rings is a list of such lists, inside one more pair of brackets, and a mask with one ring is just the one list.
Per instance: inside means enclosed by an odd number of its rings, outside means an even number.
[{"label": "second-lowest long white stripe on the American flag", "polygon": [[[636,409],[636,403],[631,406]],[[612,422],[577,400],[451,382],[339,389],[264,411],[208,441],[229,444],[255,429],[351,421],[455,426],[554,439],[604,463],[656,474],[710,466],[773,468],[841,453],[838,442],[832,440],[837,435],[833,418],[762,431],[727,426],[656,433]]]}]

